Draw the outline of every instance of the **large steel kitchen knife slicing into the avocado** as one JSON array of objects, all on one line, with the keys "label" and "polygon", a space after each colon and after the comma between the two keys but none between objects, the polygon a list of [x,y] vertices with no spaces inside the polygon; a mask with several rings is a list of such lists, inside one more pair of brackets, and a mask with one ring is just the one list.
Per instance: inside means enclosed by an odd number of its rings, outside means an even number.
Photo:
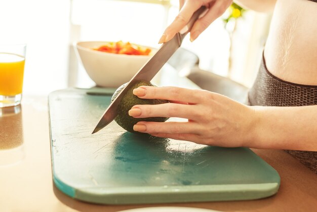
[{"label": "large steel kitchen knife slicing into the avocado", "polygon": [[186,34],[190,31],[194,22],[199,18],[199,16],[206,10],[206,7],[201,7],[197,10],[190,18],[188,24],[169,42],[164,43],[159,50],[140,68],[140,70],[134,75],[134,77],[129,81],[126,87],[117,95],[117,97],[111,102],[109,107],[106,109],[102,115],[99,123],[92,132],[98,132],[110,122],[118,114],[117,107],[120,103],[122,97],[126,94],[129,88],[134,84],[135,81],[147,80],[150,81],[157,72],[163,67],[163,65],[169,60],[169,58],[174,54],[174,52],[181,46],[183,39]]}]

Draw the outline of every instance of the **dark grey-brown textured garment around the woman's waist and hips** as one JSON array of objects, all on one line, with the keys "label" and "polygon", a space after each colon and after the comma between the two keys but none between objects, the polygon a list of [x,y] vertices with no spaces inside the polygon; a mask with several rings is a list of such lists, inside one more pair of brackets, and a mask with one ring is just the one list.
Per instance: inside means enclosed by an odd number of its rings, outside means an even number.
[{"label": "dark grey-brown textured garment around the woman's waist and hips", "polygon": [[[248,101],[249,105],[261,106],[292,107],[316,105],[317,86],[290,83],[273,76],[268,72],[263,56],[257,78],[249,91]],[[317,173],[317,152],[285,151]]]}]

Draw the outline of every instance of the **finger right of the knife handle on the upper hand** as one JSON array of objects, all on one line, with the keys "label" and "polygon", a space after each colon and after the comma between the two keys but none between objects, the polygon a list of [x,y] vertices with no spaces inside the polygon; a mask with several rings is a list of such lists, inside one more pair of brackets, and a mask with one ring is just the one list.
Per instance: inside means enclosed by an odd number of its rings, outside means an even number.
[{"label": "finger right of the knife handle on the upper hand", "polygon": [[193,42],[212,22],[221,16],[230,6],[231,0],[217,1],[209,8],[208,12],[198,19],[190,30],[190,41]]}]

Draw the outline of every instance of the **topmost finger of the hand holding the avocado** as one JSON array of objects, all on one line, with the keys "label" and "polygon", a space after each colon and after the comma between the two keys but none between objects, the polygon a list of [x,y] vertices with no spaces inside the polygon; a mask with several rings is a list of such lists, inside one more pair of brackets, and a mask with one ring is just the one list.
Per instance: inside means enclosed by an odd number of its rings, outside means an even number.
[{"label": "topmost finger of the hand holding the avocado", "polygon": [[144,99],[166,99],[188,103],[198,103],[201,101],[202,96],[205,95],[202,90],[152,86],[140,86],[133,90],[133,94]]}]

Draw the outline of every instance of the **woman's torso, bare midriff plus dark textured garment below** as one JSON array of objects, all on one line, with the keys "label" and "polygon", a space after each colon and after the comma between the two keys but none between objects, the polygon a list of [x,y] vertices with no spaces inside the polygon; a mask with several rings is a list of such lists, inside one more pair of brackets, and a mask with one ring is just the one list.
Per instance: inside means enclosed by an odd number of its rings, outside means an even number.
[{"label": "woman's torso, bare midriff plus dark textured garment below", "polygon": [[[264,57],[248,103],[317,105],[317,3],[276,2]],[[287,150],[317,174],[317,152]]]}]

